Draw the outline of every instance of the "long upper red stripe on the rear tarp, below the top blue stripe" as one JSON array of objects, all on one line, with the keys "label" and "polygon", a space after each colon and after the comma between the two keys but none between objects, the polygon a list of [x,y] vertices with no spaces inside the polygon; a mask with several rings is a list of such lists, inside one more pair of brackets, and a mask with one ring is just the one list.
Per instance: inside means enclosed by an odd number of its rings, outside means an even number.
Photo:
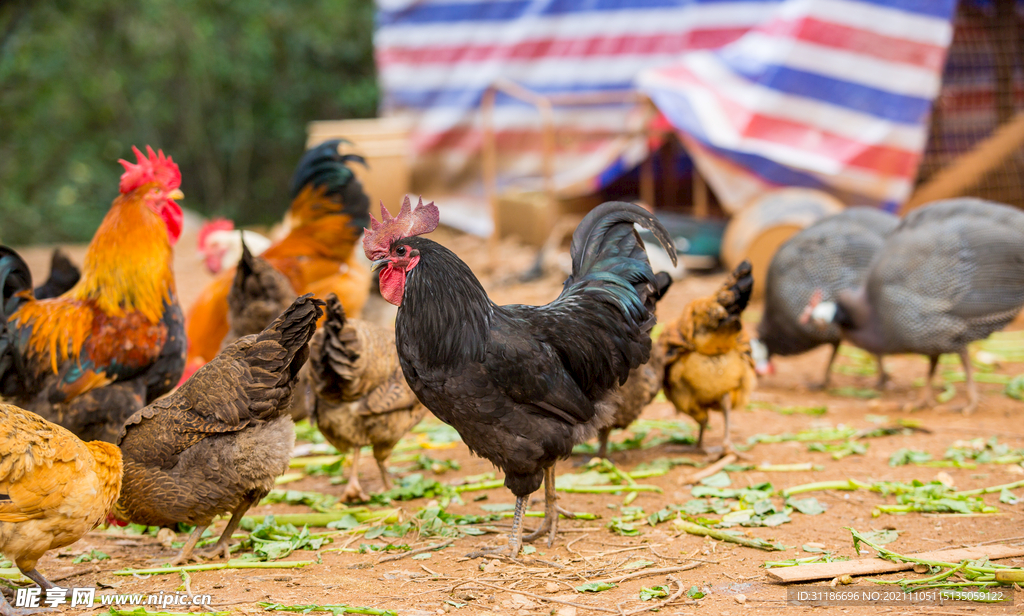
[{"label": "long upper red stripe on the rear tarp, below the top blue stripe", "polygon": [[712,49],[735,41],[749,29],[691,30],[680,34],[651,36],[595,36],[585,39],[546,38],[512,45],[458,45],[429,47],[381,47],[377,62],[392,64],[449,64],[484,60],[535,60],[565,57],[652,55]]}]

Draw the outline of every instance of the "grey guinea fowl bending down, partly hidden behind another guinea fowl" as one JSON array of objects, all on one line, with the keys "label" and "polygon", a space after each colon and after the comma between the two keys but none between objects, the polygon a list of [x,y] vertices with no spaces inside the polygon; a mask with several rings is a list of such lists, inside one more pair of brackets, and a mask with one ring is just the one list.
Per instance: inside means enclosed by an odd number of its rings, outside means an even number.
[{"label": "grey guinea fowl bending down, partly hidden behind another guinea fowl", "polygon": [[[839,292],[859,284],[898,223],[899,218],[877,208],[850,208],[819,220],[779,247],[765,277],[758,338],[751,341],[758,373],[774,372],[772,355],[799,355],[831,345],[820,386],[828,387],[842,334],[836,324],[816,327],[801,322],[804,307],[816,290],[823,300],[833,301]],[[881,385],[885,378],[881,357],[879,368]]]}]

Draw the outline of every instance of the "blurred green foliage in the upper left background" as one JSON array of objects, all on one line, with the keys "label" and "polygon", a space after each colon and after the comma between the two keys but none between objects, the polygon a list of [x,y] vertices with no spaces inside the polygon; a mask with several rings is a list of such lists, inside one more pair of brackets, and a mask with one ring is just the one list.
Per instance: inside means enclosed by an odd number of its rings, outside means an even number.
[{"label": "blurred green foliage in the upper left background", "polygon": [[84,241],[133,144],[268,224],[306,123],[373,117],[372,0],[0,0],[0,239]]}]

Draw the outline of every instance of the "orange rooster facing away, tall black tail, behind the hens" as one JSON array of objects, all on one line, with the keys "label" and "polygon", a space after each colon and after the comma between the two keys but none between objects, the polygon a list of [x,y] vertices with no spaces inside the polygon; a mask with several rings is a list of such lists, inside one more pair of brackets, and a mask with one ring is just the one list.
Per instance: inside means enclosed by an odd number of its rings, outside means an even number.
[{"label": "orange rooster facing away, tall black tail, behind the hens", "polygon": [[[292,206],[285,216],[288,235],[261,256],[284,273],[297,294],[326,298],[334,293],[348,314],[359,314],[370,294],[370,270],[353,247],[370,222],[370,200],[349,161],[338,153],[341,139],[306,151],[292,177]],[[227,334],[227,294],[234,268],[223,271],[200,294],[185,318],[188,362],[185,378],[220,350]]]}]

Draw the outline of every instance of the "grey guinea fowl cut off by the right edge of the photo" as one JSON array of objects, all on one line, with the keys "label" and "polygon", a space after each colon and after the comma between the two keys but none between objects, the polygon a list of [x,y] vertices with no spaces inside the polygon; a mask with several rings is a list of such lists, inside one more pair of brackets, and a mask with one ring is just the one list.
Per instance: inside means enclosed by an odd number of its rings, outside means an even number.
[{"label": "grey guinea fowl cut off by the right edge of the photo", "polygon": [[978,199],[915,210],[889,235],[857,290],[811,299],[806,320],[836,323],[843,338],[877,355],[929,358],[918,406],[934,404],[939,356],[957,353],[968,403],[978,406],[967,346],[1014,319],[1024,305],[1024,212]]}]

